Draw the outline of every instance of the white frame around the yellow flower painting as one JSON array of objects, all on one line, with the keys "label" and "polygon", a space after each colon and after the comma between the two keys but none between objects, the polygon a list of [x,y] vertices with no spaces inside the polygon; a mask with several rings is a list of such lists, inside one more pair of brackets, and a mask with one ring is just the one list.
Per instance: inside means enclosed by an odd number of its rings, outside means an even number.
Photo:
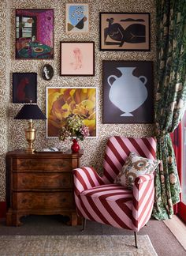
[{"label": "white frame around the yellow flower painting", "polygon": [[[95,136],[92,136],[92,137],[86,137],[87,138],[97,138],[98,137],[98,91],[97,91],[97,88],[95,86],[82,86],[82,87],[78,87],[78,86],[74,86],[74,87],[63,87],[63,86],[48,86],[46,88],[46,116],[48,116],[48,107],[47,107],[47,103],[48,103],[48,89],[49,88],[95,88],[95,133],[96,135]],[[58,137],[51,137],[51,136],[48,136],[48,119],[46,119],[46,137],[47,138],[58,138]]]}]

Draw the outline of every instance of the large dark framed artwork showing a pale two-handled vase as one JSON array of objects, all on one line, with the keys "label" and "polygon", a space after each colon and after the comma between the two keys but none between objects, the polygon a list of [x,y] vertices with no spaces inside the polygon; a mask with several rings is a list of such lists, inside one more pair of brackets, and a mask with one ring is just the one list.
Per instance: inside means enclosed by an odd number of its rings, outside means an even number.
[{"label": "large dark framed artwork showing a pale two-handled vase", "polygon": [[154,122],[153,62],[103,61],[103,123]]}]

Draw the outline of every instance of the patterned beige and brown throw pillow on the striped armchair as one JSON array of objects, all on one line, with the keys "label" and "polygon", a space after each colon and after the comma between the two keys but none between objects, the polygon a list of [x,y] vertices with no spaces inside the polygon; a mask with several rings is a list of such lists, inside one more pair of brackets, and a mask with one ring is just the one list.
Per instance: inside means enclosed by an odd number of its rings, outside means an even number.
[{"label": "patterned beige and brown throw pillow on the striped armchair", "polygon": [[160,160],[151,160],[131,152],[114,183],[132,189],[136,177],[153,173]]}]

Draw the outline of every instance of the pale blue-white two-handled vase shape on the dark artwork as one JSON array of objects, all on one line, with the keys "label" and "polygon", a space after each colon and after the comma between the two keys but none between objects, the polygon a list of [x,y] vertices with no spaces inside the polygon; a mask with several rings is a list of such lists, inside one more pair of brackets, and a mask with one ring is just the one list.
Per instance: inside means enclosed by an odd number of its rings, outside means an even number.
[{"label": "pale blue-white two-handled vase shape on the dark artwork", "polygon": [[[107,78],[110,85],[110,101],[124,113],[121,116],[133,116],[132,111],[140,107],[147,99],[147,77],[135,77],[132,73],[136,67],[118,67],[121,77],[110,75]],[[112,78],[111,83],[110,79]]]}]

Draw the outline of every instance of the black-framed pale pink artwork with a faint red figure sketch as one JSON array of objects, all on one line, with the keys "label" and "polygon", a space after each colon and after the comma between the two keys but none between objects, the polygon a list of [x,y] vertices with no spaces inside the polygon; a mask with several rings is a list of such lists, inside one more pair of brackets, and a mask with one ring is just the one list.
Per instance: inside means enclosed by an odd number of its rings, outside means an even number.
[{"label": "black-framed pale pink artwork with a faint red figure sketch", "polygon": [[60,42],[61,76],[95,75],[95,42]]}]

